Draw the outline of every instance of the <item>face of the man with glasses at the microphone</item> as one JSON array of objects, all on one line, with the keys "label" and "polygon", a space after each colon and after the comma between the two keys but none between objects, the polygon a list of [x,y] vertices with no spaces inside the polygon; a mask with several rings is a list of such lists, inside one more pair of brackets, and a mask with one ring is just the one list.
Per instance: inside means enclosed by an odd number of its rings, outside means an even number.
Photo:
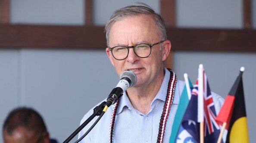
[{"label": "face of the man with glasses at the microphone", "polygon": [[[116,21],[109,32],[110,48],[118,45],[153,44],[159,41],[160,38],[156,24],[150,15],[131,16]],[[169,54],[171,43],[167,40],[162,45],[164,47],[162,50],[160,50],[160,45],[154,45],[150,56],[147,58],[137,57],[132,48],[129,49],[128,57],[124,60],[116,60],[108,48],[106,48],[106,52],[119,76],[122,71],[134,71],[137,75],[137,83],[134,87],[139,87],[158,82],[158,78],[163,76],[163,61],[165,61]]]}]

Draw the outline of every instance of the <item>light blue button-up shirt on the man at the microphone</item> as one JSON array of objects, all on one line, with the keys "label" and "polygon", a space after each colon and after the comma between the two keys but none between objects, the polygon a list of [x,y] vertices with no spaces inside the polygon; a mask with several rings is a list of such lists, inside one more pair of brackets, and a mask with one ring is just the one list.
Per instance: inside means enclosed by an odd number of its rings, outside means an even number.
[{"label": "light blue button-up shirt on the man at the microphone", "polygon": [[[159,122],[162,115],[165,98],[168,89],[170,72],[165,69],[165,76],[162,85],[156,97],[150,104],[150,111],[143,114],[136,110],[128,96],[124,93],[119,99],[119,106],[116,111],[116,119],[113,128],[113,143],[156,143],[159,132]],[[165,127],[164,143],[169,143],[169,137],[172,132],[172,124],[174,121],[175,113],[179,104],[180,96],[185,83],[177,80],[174,92],[174,99],[171,105],[170,113]],[[213,94],[213,101],[215,103],[215,110],[218,113],[224,99]],[[80,143],[109,143],[110,136],[110,122],[114,106],[110,106],[100,121],[95,125]],[[93,114],[92,108],[81,120],[81,124]],[[95,122],[95,117],[83,130],[78,134],[80,138],[91,125]]]}]

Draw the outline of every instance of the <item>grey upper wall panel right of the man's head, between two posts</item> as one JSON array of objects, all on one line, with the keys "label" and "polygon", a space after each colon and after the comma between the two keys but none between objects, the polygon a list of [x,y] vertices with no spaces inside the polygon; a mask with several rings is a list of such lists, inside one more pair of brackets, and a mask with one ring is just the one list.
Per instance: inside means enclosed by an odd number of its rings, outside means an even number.
[{"label": "grey upper wall panel right of the man's head, between two posts", "polygon": [[178,27],[241,28],[241,0],[177,0]]}]

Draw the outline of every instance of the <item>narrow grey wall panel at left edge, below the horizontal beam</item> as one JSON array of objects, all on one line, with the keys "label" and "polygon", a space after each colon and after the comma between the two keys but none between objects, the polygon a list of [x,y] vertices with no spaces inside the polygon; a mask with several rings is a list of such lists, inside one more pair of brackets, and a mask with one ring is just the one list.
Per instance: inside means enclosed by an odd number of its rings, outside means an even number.
[{"label": "narrow grey wall panel at left edge, below the horizontal beam", "polygon": [[19,51],[0,50],[0,143],[2,126],[10,110],[20,104],[19,98]]}]

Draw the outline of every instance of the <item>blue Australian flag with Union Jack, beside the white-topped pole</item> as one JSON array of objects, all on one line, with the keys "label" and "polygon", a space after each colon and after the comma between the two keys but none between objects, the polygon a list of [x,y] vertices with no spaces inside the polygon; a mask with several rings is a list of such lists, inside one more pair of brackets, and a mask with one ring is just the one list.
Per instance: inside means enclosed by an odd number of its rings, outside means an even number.
[{"label": "blue Australian flag with Union Jack, beside the white-topped pole", "polygon": [[[199,143],[200,123],[198,122],[198,80],[192,90],[191,99],[184,113],[176,143]],[[203,122],[204,143],[217,143],[220,129],[216,123],[216,112],[207,77],[203,71]],[[199,106],[200,107],[200,106]],[[201,106],[202,107],[202,106]]]}]

